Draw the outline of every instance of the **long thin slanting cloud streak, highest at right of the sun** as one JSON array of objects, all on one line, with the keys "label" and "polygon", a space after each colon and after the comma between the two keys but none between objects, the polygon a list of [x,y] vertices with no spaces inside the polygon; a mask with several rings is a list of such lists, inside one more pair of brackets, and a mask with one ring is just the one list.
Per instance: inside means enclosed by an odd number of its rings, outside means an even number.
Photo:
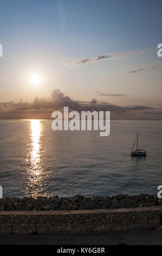
[{"label": "long thin slanting cloud streak, highest at right of the sun", "polygon": [[113,59],[113,58],[121,58],[125,56],[129,56],[134,53],[144,53],[145,51],[150,51],[150,48],[148,49],[141,49],[141,48],[136,48],[134,50],[129,50],[129,51],[124,51],[124,52],[113,52],[113,53],[105,53],[100,56],[97,56],[95,58],[83,58],[75,62],[76,65],[82,65],[90,62],[96,62],[98,60],[103,60],[103,59]]}]

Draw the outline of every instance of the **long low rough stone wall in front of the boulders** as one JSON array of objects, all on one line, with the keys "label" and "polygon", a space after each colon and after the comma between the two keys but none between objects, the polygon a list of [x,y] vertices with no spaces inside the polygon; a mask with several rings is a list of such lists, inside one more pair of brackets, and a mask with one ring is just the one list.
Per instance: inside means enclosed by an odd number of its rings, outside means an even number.
[{"label": "long low rough stone wall in front of the boulders", "polygon": [[150,229],[160,224],[162,206],[80,211],[1,211],[0,233],[47,234]]}]

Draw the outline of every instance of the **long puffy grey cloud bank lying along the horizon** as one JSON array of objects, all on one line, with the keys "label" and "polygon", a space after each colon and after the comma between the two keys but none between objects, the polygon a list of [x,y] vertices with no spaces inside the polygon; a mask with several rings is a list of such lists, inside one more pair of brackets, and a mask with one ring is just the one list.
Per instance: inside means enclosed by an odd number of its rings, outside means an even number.
[{"label": "long puffy grey cloud bank lying along the horizon", "polygon": [[[90,101],[74,101],[69,96],[64,96],[59,89],[51,92],[49,97],[35,97],[34,100],[18,100],[0,102],[0,118],[51,118],[51,113],[55,110],[63,111],[63,107],[68,106],[69,110],[76,111],[111,111],[115,118],[120,114],[124,118],[139,117],[145,115],[161,114],[161,109],[151,106],[133,105],[118,106],[109,102],[98,102],[96,99]],[[160,112],[161,111],[161,112]]]}]

